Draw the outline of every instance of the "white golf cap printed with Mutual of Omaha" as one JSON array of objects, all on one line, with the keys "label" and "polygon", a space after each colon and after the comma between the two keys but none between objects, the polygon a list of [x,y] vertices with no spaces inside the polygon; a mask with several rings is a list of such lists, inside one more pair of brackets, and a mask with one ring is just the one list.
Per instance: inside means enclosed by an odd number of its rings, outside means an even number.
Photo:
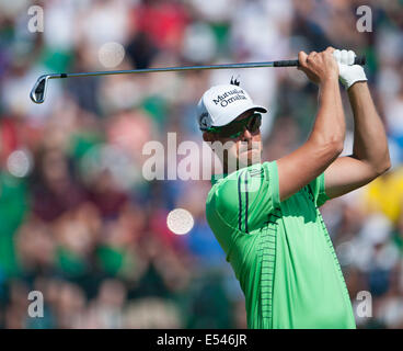
[{"label": "white golf cap printed with Mutual of Omaha", "polygon": [[197,104],[197,121],[200,131],[229,124],[249,110],[266,113],[267,110],[253,103],[247,92],[234,84],[220,84],[208,89]]}]

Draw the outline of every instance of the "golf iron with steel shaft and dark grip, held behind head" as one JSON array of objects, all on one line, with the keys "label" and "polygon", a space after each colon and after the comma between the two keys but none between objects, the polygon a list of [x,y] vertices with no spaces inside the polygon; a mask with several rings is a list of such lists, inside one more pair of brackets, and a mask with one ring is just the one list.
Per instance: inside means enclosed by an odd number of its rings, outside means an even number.
[{"label": "golf iron with steel shaft and dark grip, held behind head", "polygon": [[[365,65],[366,57],[357,56],[354,65]],[[264,63],[243,63],[243,64],[223,64],[209,66],[182,66],[182,67],[163,67],[163,68],[146,68],[131,70],[108,70],[96,72],[81,72],[81,73],[50,73],[41,76],[31,90],[31,100],[35,103],[43,103],[46,97],[46,89],[49,79],[72,78],[72,77],[91,77],[91,76],[108,76],[108,75],[128,75],[128,73],[152,73],[152,72],[173,72],[187,71],[200,69],[229,69],[229,68],[256,68],[256,67],[295,67],[299,66],[298,59],[292,60],[277,60]]]}]

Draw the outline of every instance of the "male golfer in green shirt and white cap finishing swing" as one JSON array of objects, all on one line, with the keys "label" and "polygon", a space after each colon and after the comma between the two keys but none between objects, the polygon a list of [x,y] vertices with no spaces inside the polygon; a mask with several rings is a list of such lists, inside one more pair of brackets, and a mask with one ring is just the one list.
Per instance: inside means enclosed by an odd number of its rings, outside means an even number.
[{"label": "male golfer in green shirt and white cap finishing swing", "polygon": [[[278,160],[262,152],[261,113],[244,89],[216,86],[202,97],[205,141],[231,141],[212,176],[206,217],[245,295],[249,328],[356,328],[344,276],[319,207],[390,168],[385,132],[352,50],[307,55],[299,69],[319,86],[308,140]],[[345,137],[338,78],[354,113],[353,155]],[[238,159],[231,170],[229,162]],[[257,157],[260,159],[260,157]]]}]

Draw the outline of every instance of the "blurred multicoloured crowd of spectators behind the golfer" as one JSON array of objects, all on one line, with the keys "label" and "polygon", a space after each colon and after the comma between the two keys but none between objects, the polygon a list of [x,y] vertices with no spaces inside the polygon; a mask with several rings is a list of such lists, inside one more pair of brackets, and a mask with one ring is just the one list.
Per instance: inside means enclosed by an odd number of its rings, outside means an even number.
[{"label": "blurred multicoloured crowd of spectators behind the golfer", "polygon": [[[372,32],[357,31],[361,4]],[[43,32],[30,31],[32,5]],[[265,160],[301,145],[316,110],[316,88],[295,68],[51,80],[36,105],[39,75],[292,59],[329,45],[367,55],[392,169],[322,214],[355,312],[360,291],[372,296],[357,326],[402,328],[401,0],[0,0],[0,327],[245,328],[242,292],[206,224],[210,182],[146,181],[142,147],[165,145],[169,132],[200,144],[195,105],[231,76],[269,110]],[[174,208],[192,214],[186,235],[166,225]],[[27,316],[34,290],[43,318]]]}]

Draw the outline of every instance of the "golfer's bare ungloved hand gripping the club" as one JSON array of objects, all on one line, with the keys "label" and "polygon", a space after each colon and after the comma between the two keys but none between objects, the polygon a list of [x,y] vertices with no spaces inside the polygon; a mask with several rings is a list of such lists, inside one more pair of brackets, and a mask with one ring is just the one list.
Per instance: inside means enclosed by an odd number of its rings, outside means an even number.
[{"label": "golfer's bare ungloved hand gripping the club", "polygon": [[332,55],[333,47],[327,47],[324,52],[312,52],[307,55],[304,52],[299,52],[299,67],[309,80],[316,84],[321,84],[329,79],[338,79],[338,66],[336,59]]}]

